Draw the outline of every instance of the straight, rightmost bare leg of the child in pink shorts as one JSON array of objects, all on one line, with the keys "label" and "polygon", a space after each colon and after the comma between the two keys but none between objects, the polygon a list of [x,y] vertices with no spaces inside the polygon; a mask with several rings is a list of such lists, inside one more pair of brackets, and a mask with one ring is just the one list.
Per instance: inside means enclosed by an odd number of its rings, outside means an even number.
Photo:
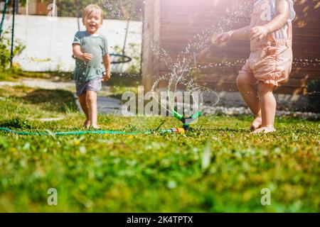
[{"label": "straight, rightmost bare leg of the child in pink shorts", "polygon": [[262,127],[258,128],[253,133],[271,133],[275,131],[274,117],[277,101],[274,99],[273,88],[273,84],[260,82],[258,85],[258,91],[261,98]]}]

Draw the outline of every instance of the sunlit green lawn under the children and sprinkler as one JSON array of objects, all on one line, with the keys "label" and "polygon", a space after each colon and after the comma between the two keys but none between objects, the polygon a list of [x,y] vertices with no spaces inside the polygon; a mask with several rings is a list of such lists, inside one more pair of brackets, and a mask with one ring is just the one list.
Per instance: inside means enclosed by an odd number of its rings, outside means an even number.
[{"label": "sunlit green lawn under the children and sprinkler", "polygon": [[[0,126],[81,129],[65,91],[0,87]],[[40,118],[61,117],[43,122]],[[103,129],[181,126],[174,118],[99,116]],[[0,211],[320,211],[319,121],[278,118],[249,135],[250,116],[203,116],[186,134],[29,136],[0,132]],[[58,206],[47,191],[58,190]],[[262,206],[261,189],[271,190]]]}]

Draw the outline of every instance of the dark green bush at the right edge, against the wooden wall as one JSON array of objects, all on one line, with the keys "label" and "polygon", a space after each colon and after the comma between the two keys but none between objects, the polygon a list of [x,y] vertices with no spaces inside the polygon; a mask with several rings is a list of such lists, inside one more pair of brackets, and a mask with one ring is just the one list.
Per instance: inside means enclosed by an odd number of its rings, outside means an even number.
[{"label": "dark green bush at the right edge, against the wooden wall", "polygon": [[307,87],[309,110],[320,113],[320,79],[312,80]]}]

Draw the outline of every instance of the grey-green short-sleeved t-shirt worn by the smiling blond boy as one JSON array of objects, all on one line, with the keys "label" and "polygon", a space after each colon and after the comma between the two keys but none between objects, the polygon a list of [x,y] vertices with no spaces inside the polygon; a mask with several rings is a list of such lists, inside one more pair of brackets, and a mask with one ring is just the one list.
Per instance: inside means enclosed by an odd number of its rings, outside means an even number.
[{"label": "grey-green short-sleeved t-shirt worn by the smiling blond boy", "polygon": [[107,39],[103,35],[91,35],[87,31],[78,31],[75,33],[73,44],[80,44],[82,52],[93,55],[92,60],[84,62],[78,58],[75,60],[75,72],[73,79],[79,82],[102,78],[105,72],[105,65],[102,57],[108,54]]}]

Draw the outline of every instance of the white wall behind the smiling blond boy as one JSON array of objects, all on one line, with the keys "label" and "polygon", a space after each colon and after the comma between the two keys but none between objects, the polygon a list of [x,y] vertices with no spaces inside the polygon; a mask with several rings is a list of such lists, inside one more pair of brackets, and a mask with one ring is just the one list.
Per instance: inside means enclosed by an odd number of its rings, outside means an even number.
[{"label": "white wall behind the smiling blond boy", "polygon": [[[0,14],[0,16],[2,16]],[[4,30],[11,27],[12,18],[6,16]],[[113,47],[124,43],[124,35],[127,27],[126,21],[105,20],[100,33],[108,40],[109,51],[114,52]],[[80,30],[83,30],[80,18]],[[33,72],[55,71],[71,72],[75,67],[75,60],[71,57],[72,42],[78,31],[78,18],[55,18],[50,20],[48,16],[16,16],[15,38],[21,40],[26,49],[14,62],[18,62],[23,70]],[[127,44],[142,44],[142,22],[130,21]],[[140,49],[141,52],[141,49]],[[139,53],[140,54],[140,53]],[[139,62],[133,62],[139,64]],[[129,64],[113,65],[113,70],[121,72]]]}]

